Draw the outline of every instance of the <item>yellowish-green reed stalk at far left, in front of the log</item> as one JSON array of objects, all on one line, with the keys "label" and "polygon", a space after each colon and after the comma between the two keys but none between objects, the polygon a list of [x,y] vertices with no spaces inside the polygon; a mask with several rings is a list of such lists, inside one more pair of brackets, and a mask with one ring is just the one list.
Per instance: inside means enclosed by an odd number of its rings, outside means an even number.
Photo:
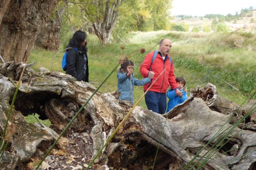
[{"label": "yellowish-green reed stalk at far left, in front of the log", "polygon": [[[10,105],[10,109],[8,111],[8,114],[7,114],[7,119],[6,119],[6,122],[5,122],[5,125],[4,125],[4,129],[3,129],[3,137],[2,137],[2,139],[0,141],[0,145],[1,145],[0,151],[1,151],[2,147],[3,147],[3,145],[4,145],[4,140],[5,140],[5,135],[6,135],[6,130],[7,130],[8,122],[10,120],[10,116],[11,116],[11,113],[12,113],[13,105],[14,105],[14,102],[16,100],[16,96],[18,94],[18,91],[19,91],[19,88],[20,88],[21,79],[23,77],[23,73],[24,73],[25,69],[26,69],[26,65],[23,67],[22,72],[20,74],[20,79],[19,79],[19,82],[18,82],[18,84],[16,86],[16,89],[15,89],[15,92],[14,92],[14,95],[13,95],[13,100],[12,100],[12,103]],[[3,148],[2,154],[0,156],[0,161],[1,161],[2,157],[3,157],[4,151],[6,150],[6,148],[8,146],[8,143],[9,143],[9,141],[6,142],[6,144],[5,144],[4,148]]]}]

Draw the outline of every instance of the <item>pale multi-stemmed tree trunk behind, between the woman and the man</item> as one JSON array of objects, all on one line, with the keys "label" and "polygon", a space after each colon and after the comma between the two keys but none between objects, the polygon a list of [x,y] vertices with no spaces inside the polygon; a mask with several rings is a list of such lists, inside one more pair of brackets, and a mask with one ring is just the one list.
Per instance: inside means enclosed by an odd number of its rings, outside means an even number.
[{"label": "pale multi-stemmed tree trunk behind, between the woman and the man", "polygon": [[118,19],[117,8],[120,5],[121,0],[115,0],[112,4],[110,4],[110,0],[107,0],[103,19],[99,18],[92,24],[95,35],[104,45],[110,42],[112,30],[115,28]]}]

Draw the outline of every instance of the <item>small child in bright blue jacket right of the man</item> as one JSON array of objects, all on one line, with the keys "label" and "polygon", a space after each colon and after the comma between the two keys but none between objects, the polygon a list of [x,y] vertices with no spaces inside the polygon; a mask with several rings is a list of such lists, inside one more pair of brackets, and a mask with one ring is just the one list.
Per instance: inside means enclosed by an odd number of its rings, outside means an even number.
[{"label": "small child in bright blue jacket right of the man", "polygon": [[181,104],[187,100],[187,93],[183,90],[186,85],[185,79],[183,77],[177,77],[175,80],[181,93],[175,93],[175,90],[172,89],[167,91],[167,97],[169,98],[169,101],[166,113],[174,108],[177,104]]}]

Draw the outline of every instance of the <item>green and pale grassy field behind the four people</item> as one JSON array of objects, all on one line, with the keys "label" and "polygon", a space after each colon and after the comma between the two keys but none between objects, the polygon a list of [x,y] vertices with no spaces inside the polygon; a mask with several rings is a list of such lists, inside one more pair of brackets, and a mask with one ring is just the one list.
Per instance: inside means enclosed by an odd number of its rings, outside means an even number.
[{"label": "green and pale grassy field behind the four people", "polygon": [[[130,56],[141,48],[145,48],[146,52],[158,50],[162,38],[170,38],[173,42],[171,56],[174,60],[175,75],[186,79],[188,94],[189,89],[197,85],[203,87],[210,82],[217,86],[223,97],[238,104],[242,104],[248,96],[256,98],[256,94],[251,95],[256,89],[256,35],[251,33],[132,32],[128,45],[113,43],[106,46],[102,46],[95,36],[89,35],[89,81],[102,82],[118,63],[121,46],[125,46],[124,55]],[[54,52],[33,49],[29,62],[36,61],[33,69],[43,66],[51,70],[55,55]],[[53,60],[53,71],[62,71],[62,55],[63,52],[59,53]],[[135,77],[138,79],[142,78],[139,67],[144,57],[145,54],[139,53],[130,56],[135,63]],[[101,89],[102,92],[109,90],[117,90],[116,74],[113,74]],[[135,101],[142,94],[143,87],[136,86]],[[145,107],[144,101],[139,105]]]}]

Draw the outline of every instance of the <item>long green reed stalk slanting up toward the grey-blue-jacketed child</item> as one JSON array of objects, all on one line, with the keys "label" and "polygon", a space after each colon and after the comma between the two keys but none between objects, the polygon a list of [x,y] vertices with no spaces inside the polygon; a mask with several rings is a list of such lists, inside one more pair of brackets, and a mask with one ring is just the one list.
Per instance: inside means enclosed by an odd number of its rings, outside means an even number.
[{"label": "long green reed stalk slanting up toward the grey-blue-jacketed child", "polygon": [[60,137],[66,132],[67,129],[69,129],[69,126],[73,123],[75,118],[79,115],[79,113],[83,110],[83,108],[88,104],[88,102],[91,100],[91,98],[94,96],[94,94],[98,91],[98,89],[103,85],[103,83],[112,75],[112,73],[117,69],[119,66],[119,63],[115,66],[114,69],[108,74],[108,76],[103,80],[103,82],[98,86],[98,88],[93,91],[92,95],[88,98],[88,100],[85,102],[85,104],[82,105],[82,107],[75,113],[75,116],[73,116],[72,120],[70,120],[69,124],[63,129],[59,137],[55,140],[53,145],[49,148],[49,150],[44,155],[43,159],[39,162],[39,165],[36,167],[35,170],[38,170],[39,166],[42,164],[42,162],[45,160],[45,158],[48,156],[48,154],[53,150],[56,143],[59,141]]}]

